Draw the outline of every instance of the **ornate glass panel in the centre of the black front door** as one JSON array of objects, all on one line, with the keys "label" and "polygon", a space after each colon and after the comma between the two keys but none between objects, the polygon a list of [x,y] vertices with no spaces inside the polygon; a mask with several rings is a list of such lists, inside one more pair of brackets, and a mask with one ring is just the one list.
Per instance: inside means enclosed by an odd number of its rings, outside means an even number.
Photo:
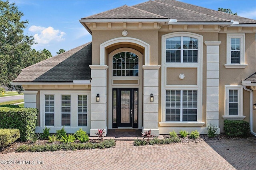
[{"label": "ornate glass panel in the centre of the black front door", "polygon": [[121,90],[121,123],[130,123],[130,90]]}]

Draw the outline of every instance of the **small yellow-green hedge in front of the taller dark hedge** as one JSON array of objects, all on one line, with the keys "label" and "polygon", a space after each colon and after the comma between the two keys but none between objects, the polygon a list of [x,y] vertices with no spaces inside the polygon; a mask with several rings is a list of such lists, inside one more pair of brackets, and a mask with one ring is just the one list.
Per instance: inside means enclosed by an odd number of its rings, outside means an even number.
[{"label": "small yellow-green hedge in front of the taller dark hedge", "polygon": [[20,137],[19,129],[0,129],[0,148],[7,147]]}]

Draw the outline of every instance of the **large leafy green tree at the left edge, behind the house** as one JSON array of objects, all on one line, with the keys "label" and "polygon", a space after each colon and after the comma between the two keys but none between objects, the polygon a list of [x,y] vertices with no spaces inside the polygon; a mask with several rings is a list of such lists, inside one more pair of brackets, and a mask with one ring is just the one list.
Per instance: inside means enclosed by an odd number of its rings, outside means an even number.
[{"label": "large leafy green tree at the left edge, behind the house", "polygon": [[21,86],[12,86],[10,82],[21,69],[52,56],[31,49],[34,37],[24,35],[28,20],[22,20],[22,16],[14,3],[0,0],[0,85],[18,91],[22,90]]}]

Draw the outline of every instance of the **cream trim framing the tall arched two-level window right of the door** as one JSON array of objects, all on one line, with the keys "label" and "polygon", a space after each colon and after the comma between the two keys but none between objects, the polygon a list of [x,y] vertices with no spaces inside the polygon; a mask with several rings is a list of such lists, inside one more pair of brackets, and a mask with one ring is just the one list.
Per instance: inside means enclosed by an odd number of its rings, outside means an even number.
[{"label": "cream trim framing the tall arched two-level window right of the door", "polygon": [[[193,37],[198,39],[198,63],[166,63],[166,39],[170,37]],[[198,90],[197,96],[197,121],[166,121],[166,95],[161,96],[161,100],[164,101],[161,104],[161,122],[160,126],[202,126],[205,123],[202,122],[202,63],[203,63],[203,36],[196,33],[189,32],[175,32],[162,35],[162,69],[161,69],[161,91],[166,92],[166,90]],[[196,85],[167,85],[166,71],[167,68],[197,68],[197,84]],[[186,76],[186,75],[185,75]]]}]

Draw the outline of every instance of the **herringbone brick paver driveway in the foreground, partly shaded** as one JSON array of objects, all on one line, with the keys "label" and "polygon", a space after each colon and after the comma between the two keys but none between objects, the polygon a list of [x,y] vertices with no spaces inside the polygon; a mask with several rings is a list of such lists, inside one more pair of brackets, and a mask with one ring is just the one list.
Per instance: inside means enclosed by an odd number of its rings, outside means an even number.
[{"label": "herringbone brick paver driveway in the foreground, partly shaded", "polygon": [[255,170],[255,154],[255,138],[142,147],[116,141],[112,149],[0,154],[0,169]]}]

